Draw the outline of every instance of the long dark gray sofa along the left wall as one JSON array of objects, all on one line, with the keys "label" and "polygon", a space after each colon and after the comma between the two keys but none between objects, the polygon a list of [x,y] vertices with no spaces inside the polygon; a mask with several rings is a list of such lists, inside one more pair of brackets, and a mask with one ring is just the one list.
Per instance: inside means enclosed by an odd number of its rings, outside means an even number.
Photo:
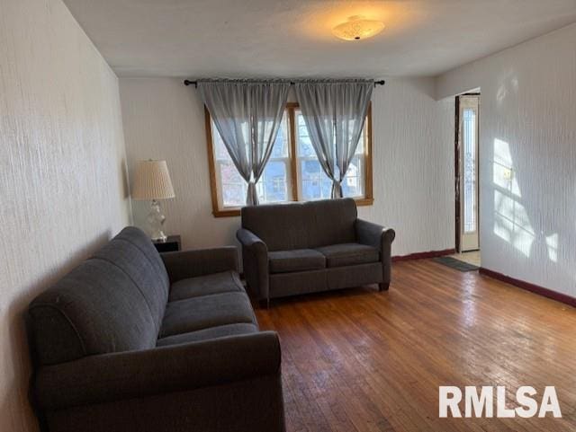
[{"label": "long dark gray sofa along the left wall", "polygon": [[284,431],[278,337],[234,247],[160,256],[125,228],[31,303],[29,330],[49,431]]}]

